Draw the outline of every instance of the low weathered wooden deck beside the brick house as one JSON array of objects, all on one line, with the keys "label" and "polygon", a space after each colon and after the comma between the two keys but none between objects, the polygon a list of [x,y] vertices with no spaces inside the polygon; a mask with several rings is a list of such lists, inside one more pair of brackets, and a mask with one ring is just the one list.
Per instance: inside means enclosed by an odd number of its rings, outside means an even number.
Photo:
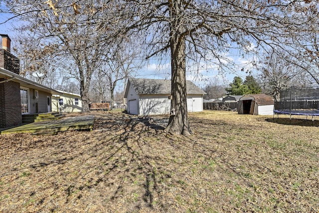
[{"label": "low weathered wooden deck beside the brick house", "polygon": [[56,134],[68,130],[92,131],[94,126],[94,116],[74,116],[65,117],[59,120],[41,121],[21,125],[11,129],[1,131],[1,134],[9,133],[32,133],[32,134]]}]

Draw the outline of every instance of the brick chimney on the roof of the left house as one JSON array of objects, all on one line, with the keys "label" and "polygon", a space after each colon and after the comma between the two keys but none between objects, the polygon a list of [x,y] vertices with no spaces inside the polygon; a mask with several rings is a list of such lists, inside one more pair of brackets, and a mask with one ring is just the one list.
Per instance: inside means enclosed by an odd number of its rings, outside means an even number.
[{"label": "brick chimney on the roof of the left house", "polygon": [[7,34],[2,37],[2,48],[0,49],[0,67],[16,74],[20,73],[20,60],[11,54],[11,39]]}]

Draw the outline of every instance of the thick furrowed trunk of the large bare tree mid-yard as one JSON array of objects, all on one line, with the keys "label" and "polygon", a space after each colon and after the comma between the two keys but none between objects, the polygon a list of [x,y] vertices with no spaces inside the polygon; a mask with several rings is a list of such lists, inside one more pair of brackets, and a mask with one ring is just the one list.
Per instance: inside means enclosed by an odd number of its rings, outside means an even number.
[{"label": "thick furrowed trunk of the large bare tree mid-yard", "polygon": [[170,2],[171,15],[174,21],[170,29],[170,51],[171,51],[171,115],[166,132],[172,134],[190,135],[192,131],[188,123],[187,94],[186,94],[186,66],[185,66],[185,39],[181,35],[180,13],[182,0]]}]

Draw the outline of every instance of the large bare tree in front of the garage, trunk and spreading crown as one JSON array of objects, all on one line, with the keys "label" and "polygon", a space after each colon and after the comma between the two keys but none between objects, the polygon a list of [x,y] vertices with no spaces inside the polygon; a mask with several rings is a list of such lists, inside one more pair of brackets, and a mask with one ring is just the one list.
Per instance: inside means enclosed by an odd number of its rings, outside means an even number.
[{"label": "large bare tree in front of the garage, trunk and spreading crown", "polygon": [[[281,46],[307,21],[310,1],[275,0],[128,0],[132,10],[130,29],[145,36],[149,57],[171,57],[171,109],[166,132],[192,133],[187,116],[185,60],[208,60],[223,64],[222,52],[239,47],[248,51]],[[316,10],[317,11],[317,10]],[[317,13],[312,17],[316,18]],[[226,64],[225,64],[226,65]]]}]

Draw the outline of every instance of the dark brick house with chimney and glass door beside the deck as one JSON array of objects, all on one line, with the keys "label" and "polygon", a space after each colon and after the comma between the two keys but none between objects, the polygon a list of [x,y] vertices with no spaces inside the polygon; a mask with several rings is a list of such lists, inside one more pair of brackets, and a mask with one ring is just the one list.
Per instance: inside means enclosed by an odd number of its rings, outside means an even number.
[{"label": "dark brick house with chimney and glass door beside the deck", "polygon": [[51,112],[58,91],[19,76],[19,59],[10,53],[10,38],[0,34],[0,128],[22,123],[23,114]]}]

